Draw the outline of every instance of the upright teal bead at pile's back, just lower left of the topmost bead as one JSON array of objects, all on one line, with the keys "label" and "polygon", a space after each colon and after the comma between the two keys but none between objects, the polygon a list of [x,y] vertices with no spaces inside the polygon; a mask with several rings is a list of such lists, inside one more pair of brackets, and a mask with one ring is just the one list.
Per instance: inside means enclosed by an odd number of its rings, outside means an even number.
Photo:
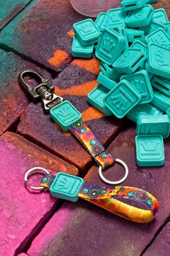
[{"label": "upright teal bead at pile's back, just lower left of the topmost bead", "polygon": [[125,12],[122,8],[110,9],[107,11],[107,28],[118,26],[125,26]]}]

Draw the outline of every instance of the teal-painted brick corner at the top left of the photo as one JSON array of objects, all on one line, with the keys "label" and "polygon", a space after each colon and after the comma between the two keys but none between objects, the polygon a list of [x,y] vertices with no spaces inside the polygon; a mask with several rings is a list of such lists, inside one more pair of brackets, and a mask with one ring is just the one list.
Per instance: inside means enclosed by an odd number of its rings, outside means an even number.
[{"label": "teal-painted brick corner at the top left of the photo", "polygon": [[30,0],[0,0],[0,30],[30,3]]}]

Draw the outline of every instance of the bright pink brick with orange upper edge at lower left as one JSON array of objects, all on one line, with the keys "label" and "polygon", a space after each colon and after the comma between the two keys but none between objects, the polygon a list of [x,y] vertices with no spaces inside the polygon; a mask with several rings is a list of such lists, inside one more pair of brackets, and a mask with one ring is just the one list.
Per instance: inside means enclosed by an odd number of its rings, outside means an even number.
[{"label": "bright pink brick with orange upper edge at lower left", "polygon": [[[74,166],[51,155],[19,135],[6,132],[0,138],[1,214],[0,255],[11,256],[23,252],[30,241],[58,205],[49,193],[31,193],[24,187],[24,173],[33,166],[42,166],[55,174],[64,171],[78,175]],[[40,184],[40,175],[33,184]],[[7,245],[7,246],[6,246]]]}]

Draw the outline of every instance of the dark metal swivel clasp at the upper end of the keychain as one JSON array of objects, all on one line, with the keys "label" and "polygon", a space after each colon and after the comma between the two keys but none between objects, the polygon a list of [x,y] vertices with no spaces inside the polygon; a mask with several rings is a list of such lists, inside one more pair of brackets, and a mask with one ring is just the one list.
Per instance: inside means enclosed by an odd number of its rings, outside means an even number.
[{"label": "dark metal swivel clasp at the upper end of the keychain", "polygon": [[[24,81],[24,77],[27,76],[35,78],[38,84],[36,86],[29,85]],[[55,93],[52,92],[54,88],[53,84],[33,70],[24,70],[19,74],[18,80],[22,88],[24,88],[33,99],[42,99],[45,111],[49,111],[53,106],[57,106],[63,102],[62,97],[55,95]]]}]

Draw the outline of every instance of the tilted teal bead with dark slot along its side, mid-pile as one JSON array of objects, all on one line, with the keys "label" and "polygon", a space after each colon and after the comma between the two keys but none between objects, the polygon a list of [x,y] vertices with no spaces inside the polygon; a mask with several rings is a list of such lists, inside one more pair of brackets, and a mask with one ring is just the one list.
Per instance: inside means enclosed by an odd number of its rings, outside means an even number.
[{"label": "tilted teal bead with dark slot along its side, mid-pile", "polygon": [[145,60],[146,54],[143,50],[128,48],[114,62],[113,68],[115,68],[117,72],[131,74],[135,72]]}]

